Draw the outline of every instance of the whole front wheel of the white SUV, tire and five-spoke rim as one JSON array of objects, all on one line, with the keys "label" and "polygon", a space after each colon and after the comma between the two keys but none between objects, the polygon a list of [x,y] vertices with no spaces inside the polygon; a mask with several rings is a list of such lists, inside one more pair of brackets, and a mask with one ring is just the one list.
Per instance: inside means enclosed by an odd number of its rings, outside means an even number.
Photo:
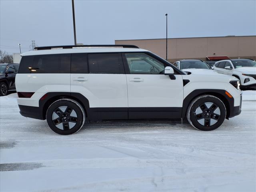
[{"label": "whole front wheel of the white SUV, tire and five-spoke rim", "polygon": [[201,131],[211,131],[224,122],[226,107],[217,97],[212,95],[198,96],[188,106],[188,122]]}]

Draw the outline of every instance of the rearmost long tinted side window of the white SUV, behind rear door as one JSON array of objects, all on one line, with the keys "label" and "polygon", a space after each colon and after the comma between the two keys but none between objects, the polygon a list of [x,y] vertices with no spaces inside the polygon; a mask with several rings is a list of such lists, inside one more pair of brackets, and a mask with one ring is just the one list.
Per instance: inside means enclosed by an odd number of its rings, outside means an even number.
[{"label": "rearmost long tinted side window of the white SUV, behind rear door", "polygon": [[70,73],[71,54],[23,56],[19,73]]}]

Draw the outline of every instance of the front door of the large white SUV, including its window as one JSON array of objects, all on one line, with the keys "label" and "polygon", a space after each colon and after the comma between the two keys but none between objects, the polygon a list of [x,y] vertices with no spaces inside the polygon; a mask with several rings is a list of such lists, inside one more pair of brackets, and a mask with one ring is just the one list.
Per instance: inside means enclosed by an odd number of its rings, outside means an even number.
[{"label": "front door of the large white SUV, including its window", "polygon": [[164,75],[164,63],[147,53],[125,53],[129,119],[180,118],[183,81]]}]

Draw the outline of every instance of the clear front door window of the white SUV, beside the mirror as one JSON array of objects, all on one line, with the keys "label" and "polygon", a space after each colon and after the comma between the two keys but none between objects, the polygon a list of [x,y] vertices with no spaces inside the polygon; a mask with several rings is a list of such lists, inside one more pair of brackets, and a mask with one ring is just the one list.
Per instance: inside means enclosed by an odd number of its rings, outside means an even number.
[{"label": "clear front door window of the white SUV, beside the mirror", "polygon": [[126,53],[130,74],[163,74],[164,64],[145,53]]}]

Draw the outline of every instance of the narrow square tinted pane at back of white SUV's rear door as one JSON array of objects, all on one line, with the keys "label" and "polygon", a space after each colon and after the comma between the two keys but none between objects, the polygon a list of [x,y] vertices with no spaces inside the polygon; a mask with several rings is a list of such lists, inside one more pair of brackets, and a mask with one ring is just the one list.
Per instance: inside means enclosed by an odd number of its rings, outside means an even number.
[{"label": "narrow square tinted pane at back of white SUV's rear door", "polygon": [[72,53],[71,73],[88,73],[87,53]]}]

